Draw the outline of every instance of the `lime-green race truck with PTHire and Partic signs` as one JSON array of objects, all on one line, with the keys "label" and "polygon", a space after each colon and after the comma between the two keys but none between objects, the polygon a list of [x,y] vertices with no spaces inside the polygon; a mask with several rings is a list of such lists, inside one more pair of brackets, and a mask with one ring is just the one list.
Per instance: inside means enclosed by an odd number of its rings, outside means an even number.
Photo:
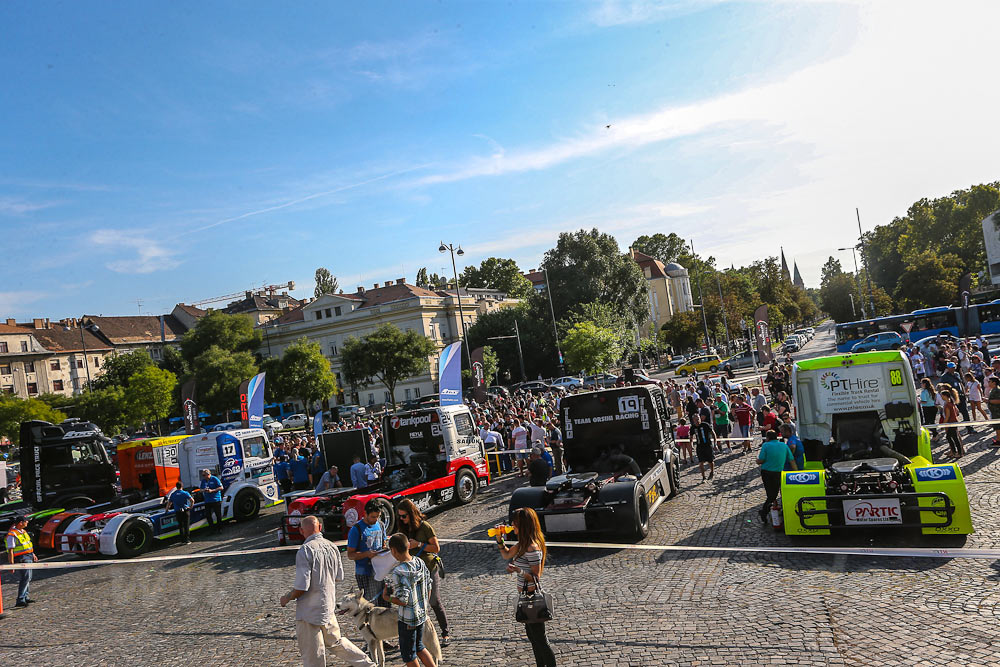
[{"label": "lime-green race truck with PTHire and Partic signs", "polygon": [[792,380],[805,469],[782,474],[786,534],[866,526],[973,532],[962,470],[933,462],[902,352],[797,361]]}]

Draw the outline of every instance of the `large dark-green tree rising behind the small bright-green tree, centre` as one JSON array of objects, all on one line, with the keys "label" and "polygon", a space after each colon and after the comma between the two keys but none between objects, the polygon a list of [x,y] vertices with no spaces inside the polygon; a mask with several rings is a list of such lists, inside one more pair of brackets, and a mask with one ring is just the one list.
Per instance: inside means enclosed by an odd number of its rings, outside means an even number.
[{"label": "large dark-green tree rising behind the small bright-green tree, centre", "polygon": [[614,237],[596,229],[563,232],[545,253],[543,266],[557,316],[578,304],[603,302],[628,321],[645,321],[646,281]]}]

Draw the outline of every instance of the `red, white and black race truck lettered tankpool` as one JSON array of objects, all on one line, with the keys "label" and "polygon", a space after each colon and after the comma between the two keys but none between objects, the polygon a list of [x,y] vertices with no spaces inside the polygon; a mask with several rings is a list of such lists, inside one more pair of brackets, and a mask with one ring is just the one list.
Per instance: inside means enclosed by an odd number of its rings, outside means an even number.
[{"label": "red, white and black race truck lettered tankpool", "polygon": [[421,512],[426,512],[452,502],[470,503],[478,489],[489,484],[483,441],[467,406],[438,406],[387,415],[382,426],[385,470],[378,481],[361,489],[349,486],[350,467],[355,454],[362,462],[372,460],[368,431],[323,434],[327,462],[337,465],[348,487],[287,494],[281,544],[302,542],[298,525],[305,515],[320,517],[324,535],[342,540],[364,516],[365,504],[375,500],[382,507],[386,531],[392,533],[399,500],[409,498]]}]

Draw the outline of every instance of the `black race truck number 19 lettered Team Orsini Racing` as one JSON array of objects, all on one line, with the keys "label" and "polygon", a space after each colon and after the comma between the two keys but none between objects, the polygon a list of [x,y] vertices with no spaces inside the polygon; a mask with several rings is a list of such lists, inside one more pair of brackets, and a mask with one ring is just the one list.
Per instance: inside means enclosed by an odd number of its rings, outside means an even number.
[{"label": "black race truck number 19 lettered Team Orsini Racing", "polygon": [[538,513],[546,535],[649,534],[649,518],[680,489],[663,389],[635,385],[573,394],[559,406],[570,472],[514,491],[510,514]]}]

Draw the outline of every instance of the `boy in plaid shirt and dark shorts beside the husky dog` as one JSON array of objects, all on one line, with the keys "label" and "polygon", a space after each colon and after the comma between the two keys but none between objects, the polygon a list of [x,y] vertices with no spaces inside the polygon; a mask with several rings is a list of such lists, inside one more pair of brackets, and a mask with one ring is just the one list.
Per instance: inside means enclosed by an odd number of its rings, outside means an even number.
[{"label": "boy in plaid shirt and dark shorts beside the husky dog", "polygon": [[386,577],[383,595],[399,605],[399,655],[407,667],[417,667],[417,658],[424,667],[435,667],[434,658],[423,643],[431,573],[422,560],[410,555],[410,540],[403,533],[389,538],[389,550],[399,564]]}]

